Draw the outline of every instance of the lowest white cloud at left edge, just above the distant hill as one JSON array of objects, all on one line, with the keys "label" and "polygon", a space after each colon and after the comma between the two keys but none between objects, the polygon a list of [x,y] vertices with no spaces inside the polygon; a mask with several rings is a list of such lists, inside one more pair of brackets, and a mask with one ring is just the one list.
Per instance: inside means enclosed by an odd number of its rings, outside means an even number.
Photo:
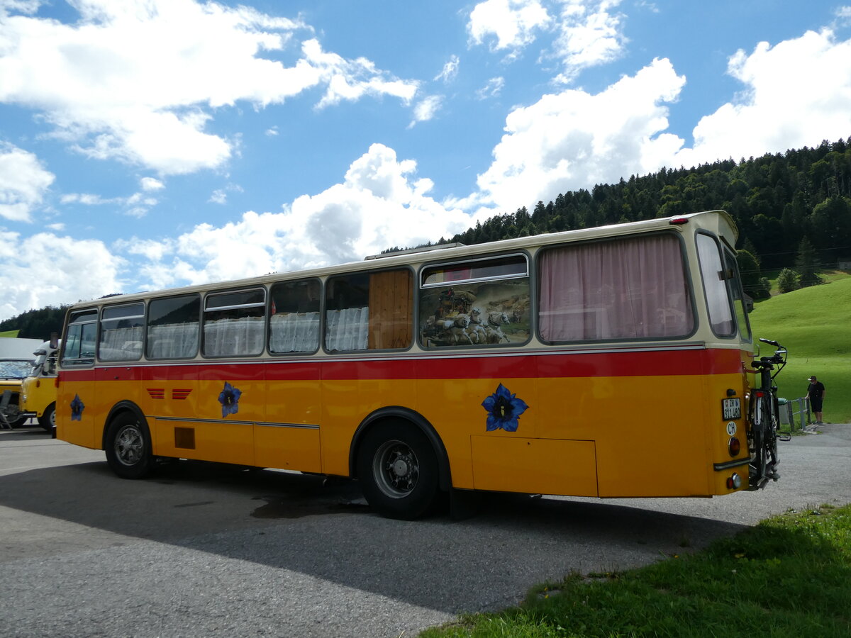
[{"label": "lowest white cloud at left edge, just above the distant hill", "polygon": [[125,264],[97,240],[0,229],[0,317],[121,292],[117,273]]}]

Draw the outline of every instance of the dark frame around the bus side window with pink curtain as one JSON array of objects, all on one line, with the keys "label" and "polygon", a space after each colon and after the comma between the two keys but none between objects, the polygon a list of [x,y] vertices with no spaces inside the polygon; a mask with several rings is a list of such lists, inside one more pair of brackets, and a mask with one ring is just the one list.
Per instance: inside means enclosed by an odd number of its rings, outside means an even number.
[{"label": "dark frame around the bus side window with pink curtain", "polygon": [[[565,248],[568,246],[585,246],[591,244],[600,244],[600,243],[611,243],[611,242],[622,242],[625,240],[633,240],[633,239],[642,239],[646,237],[654,237],[654,236],[673,236],[677,239],[677,242],[680,245],[680,264],[683,267],[683,282],[686,284],[687,293],[688,293],[688,303],[691,306],[692,313],[692,326],[691,331],[688,333],[684,333],[682,335],[670,336],[670,337],[613,337],[607,339],[573,339],[568,341],[554,341],[550,339],[544,339],[544,337],[540,333],[540,255],[546,253],[549,250],[556,250],[558,248]],[[695,255],[695,259],[697,259]],[[597,237],[595,239],[586,239],[579,240],[574,242],[561,242],[561,243],[553,243],[546,246],[541,246],[538,251],[536,251],[534,255],[535,260],[535,268],[534,274],[536,278],[536,287],[534,294],[534,307],[536,308],[536,313],[534,317],[535,322],[535,337],[540,341],[541,344],[544,345],[599,345],[599,344],[646,344],[646,343],[654,343],[660,341],[683,341],[686,339],[691,339],[694,335],[700,330],[700,314],[698,312],[697,299],[695,295],[694,288],[694,279],[692,277],[691,264],[689,263],[688,258],[688,246],[685,241],[685,237],[681,232],[671,231],[667,229],[658,230],[658,231],[648,231],[648,232],[638,232],[638,233],[629,233],[623,235],[612,235],[606,237]]]}]

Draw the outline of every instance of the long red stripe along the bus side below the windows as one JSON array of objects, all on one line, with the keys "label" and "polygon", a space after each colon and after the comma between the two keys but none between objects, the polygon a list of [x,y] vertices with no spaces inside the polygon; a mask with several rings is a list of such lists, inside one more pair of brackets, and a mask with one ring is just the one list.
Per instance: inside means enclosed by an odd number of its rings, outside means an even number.
[{"label": "long red stripe along the bus side below the windows", "polygon": [[351,361],[202,362],[65,370],[67,382],[98,380],[262,381],[357,379],[537,379],[647,377],[742,372],[740,350],[647,350],[494,356],[422,356]]}]

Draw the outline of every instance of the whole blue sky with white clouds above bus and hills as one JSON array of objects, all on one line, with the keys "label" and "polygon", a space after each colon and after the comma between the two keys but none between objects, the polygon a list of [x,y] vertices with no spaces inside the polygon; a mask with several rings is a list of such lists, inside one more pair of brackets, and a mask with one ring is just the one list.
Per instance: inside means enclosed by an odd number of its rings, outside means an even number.
[{"label": "whole blue sky with white clouds above bus and hills", "polygon": [[849,136],[851,4],[0,0],[0,319]]}]

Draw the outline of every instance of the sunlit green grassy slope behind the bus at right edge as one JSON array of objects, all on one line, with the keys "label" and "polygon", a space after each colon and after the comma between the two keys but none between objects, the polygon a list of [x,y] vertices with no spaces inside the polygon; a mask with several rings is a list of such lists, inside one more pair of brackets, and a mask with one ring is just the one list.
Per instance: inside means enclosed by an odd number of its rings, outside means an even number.
[{"label": "sunlit green grassy slope behind the bus at right edge", "polygon": [[[789,349],[780,396],[803,396],[815,374],[825,384],[825,421],[851,423],[851,277],[762,301],[750,318],[755,338]],[[762,344],[763,354],[773,351]]]}]

